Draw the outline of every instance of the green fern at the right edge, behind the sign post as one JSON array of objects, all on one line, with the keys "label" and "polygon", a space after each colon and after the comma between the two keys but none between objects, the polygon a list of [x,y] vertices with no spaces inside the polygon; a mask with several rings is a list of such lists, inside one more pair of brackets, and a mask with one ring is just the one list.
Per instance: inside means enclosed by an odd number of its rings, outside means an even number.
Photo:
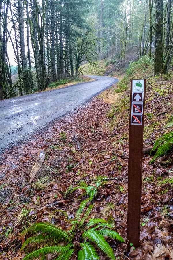
[{"label": "green fern at the right edge, behind the sign post", "polygon": [[164,154],[171,151],[173,148],[173,131],[171,133],[168,133],[166,135],[163,135],[163,137],[159,138],[153,147],[153,151],[155,152],[155,155],[153,156],[153,159],[150,161],[152,163],[156,158],[163,156]]}]

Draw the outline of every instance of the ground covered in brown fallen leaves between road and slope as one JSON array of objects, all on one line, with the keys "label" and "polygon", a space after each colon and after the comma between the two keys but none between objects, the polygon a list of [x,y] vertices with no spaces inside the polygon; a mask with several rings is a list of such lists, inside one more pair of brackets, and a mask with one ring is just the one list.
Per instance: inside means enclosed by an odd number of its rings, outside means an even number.
[{"label": "ground covered in brown fallen leaves between road and slope", "polygon": [[[165,126],[172,120],[172,78],[171,74],[147,79],[144,148],[170,131]],[[116,88],[112,86],[74,114],[57,120],[42,135],[0,155],[0,259],[22,259],[21,231],[31,223],[49,221],[66,229],[68,220],[61,211],[73,218],[84,196],[80,196],[82,190],[65,192],[80,181],[95,185],[98,176],[108,179],[93,200],[90,218],[112,216],[126,242],[129,87],[119,94]],[[45,152],[45,161],[29,183],[40,150]],[[126,243],[110,242],[117,259],[173,259],[173,153],[153,164],[151,159],[144,155],[142,161],[140,246],[128,250]],[[100,253],[100,259],[107,258]]]}]

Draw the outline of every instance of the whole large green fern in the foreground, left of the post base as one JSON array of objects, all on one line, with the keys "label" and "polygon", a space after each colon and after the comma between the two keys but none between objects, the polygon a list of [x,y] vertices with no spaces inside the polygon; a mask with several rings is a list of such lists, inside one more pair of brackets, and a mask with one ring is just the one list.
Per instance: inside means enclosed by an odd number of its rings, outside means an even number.
[{"label": "whole large green fern in the foreground, left of the post base", "polygon": [[[124,242],[124,239],[113,229],[113,226],[101,218],[90,218],[87,221],[93,205],[89,205],[85,213],[84,208],[89,200],[84,200],[76,211],[76,218],[68,220],[70,229],[63,229],[50,223],[35,223],[25,233],[29,237],[22,245],[28,253],[24,260],[41,257],[46,259],[71,259],[72,255],[78,260],[99,259],[96,251],[101,250],[109,259],[114,260],[114,252],[105,237]],[[94,246],[96,245],[96,248]],[[35,250],[35,248],[38,248]]]}]

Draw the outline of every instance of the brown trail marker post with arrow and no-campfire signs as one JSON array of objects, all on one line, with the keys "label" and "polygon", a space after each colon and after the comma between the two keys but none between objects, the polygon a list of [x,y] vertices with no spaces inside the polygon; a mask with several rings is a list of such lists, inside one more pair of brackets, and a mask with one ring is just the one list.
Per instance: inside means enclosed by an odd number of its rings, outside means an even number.
[{"label": "brown trail marker post with arrow and no-campfire signs", "polygon": [[146,80],[131,80],[127,241],[139,246]]}]

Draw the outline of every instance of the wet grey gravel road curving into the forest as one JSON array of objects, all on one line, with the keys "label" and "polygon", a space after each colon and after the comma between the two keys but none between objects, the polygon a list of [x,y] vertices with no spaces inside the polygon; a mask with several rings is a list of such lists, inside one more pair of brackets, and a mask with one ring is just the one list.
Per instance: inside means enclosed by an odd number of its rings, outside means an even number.
[{"label": "wet grey gravel road curving into the forest", "polygon": [[118,79],[91,76],[96,81],[0,101],[0,152],[27,138],[51,121],[86,103]]}]

